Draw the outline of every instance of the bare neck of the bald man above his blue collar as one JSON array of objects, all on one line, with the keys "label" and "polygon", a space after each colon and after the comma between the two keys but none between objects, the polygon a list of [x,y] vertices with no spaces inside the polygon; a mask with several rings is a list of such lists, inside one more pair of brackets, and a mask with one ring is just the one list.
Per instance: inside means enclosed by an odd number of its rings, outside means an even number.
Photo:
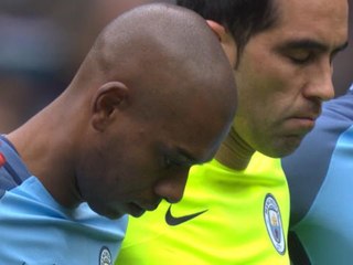
[{"label": "bare neck of the bald man above his blue collar", "polygon": [[81,203],[73,176],[72,156],[67,155],[74,148],[69,147],[67,135],[60,131],[62,121],[54,121],[53,117],[55,115],[44,109],[7,138],[14,145],[29,171],[53,198],[65,208],[74,208]]}]

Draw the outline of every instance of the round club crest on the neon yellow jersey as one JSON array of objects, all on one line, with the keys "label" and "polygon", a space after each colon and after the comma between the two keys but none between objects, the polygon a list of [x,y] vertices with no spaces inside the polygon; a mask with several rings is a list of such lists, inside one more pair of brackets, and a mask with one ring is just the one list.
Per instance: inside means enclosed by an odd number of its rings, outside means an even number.
[{"label": "round club crest on the neon yellow jersey", "polygon": [[264,202],[264,218],[266,229],[275,248],[281,255],[286,252],[282,220],[278,203],[272,194],[267,194]]}]

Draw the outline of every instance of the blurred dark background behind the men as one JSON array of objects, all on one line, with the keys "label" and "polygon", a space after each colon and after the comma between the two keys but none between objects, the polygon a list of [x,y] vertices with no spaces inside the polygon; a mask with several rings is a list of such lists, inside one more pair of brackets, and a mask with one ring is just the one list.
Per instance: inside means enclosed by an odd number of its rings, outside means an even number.
[{"label": "blurred dark background behind the men", "polygon": [[[0,134],[23,124],[66,87],[104,25],[132,7],[157,1],[0,0]],[[353,81],[352,9],[351,45],[333,62],[336,96]]]}]

